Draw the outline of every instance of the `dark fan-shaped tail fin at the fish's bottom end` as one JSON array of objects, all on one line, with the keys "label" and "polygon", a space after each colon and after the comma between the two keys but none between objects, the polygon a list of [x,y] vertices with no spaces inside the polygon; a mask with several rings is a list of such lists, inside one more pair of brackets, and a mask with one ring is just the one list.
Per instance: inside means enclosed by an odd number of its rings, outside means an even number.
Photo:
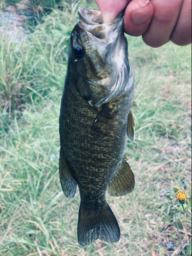
[{"label": "dark fan-shaped tail fin at the fish's bottom end", "polygon": [[80,245],[91,244],[97,239],[108,243],[119,241],[119,225],[107,202],[100,212],[84,210],[80,205],[77,236]]}]

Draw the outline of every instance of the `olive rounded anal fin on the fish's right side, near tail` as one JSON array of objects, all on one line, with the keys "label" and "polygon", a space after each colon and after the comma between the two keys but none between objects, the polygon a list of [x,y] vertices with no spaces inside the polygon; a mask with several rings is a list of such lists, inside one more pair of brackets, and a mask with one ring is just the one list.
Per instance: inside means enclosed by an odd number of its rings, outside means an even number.
[{"label": "olive rounded anal fin on the fish's right side, near tail", "polygon": [[125,196],[133,191],[135,176],[130,165],[123,159],[121,167],[108,185],[108,193],[112,197]]}]

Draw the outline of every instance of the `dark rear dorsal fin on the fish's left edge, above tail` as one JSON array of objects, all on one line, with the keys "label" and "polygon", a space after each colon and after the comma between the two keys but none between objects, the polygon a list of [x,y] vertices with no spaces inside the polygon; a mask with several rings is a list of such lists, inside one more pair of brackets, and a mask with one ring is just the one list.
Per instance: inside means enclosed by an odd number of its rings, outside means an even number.
[{"label": "dark rear dorsal fin on the fish's left edge, above tail", "polygon": [[65,194],[65,196],[67,198],[74,197],[76,193],[77,182],[74,180],[61,151],[59,159],[59,178],[62,191]]}]

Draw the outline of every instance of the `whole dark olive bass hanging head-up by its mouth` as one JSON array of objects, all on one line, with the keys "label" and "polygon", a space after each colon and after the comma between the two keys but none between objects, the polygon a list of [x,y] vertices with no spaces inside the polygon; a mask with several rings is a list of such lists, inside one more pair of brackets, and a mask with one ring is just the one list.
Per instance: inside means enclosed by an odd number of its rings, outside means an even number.
[{"label": "whole dark olive bass hanging head-up by its mouth", "polygon": [[124,13],[104,24],[100,11],[78,9],[70,36],[68,68],[61,99],[59,177],[73,198],[78,185],[80,245],[120,239],[120,228],[106,191],[125,196],[135,177],[124,156],[127,138],[135,139],[132,106],[134,71],[123,32]]}]

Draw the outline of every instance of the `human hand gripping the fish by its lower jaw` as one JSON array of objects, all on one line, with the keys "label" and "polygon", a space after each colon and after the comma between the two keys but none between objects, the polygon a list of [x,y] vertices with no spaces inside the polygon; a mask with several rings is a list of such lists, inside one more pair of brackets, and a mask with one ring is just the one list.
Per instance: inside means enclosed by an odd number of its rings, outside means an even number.
[{"label": "human hand gripping the fish by its lower jaw", "polygon": [[191,0],[95,0],[104,23],[112,22],[126,7],[124,30],[142,35],[145,44],[160,47],[169,40],[179,46],[191,43]]}]

